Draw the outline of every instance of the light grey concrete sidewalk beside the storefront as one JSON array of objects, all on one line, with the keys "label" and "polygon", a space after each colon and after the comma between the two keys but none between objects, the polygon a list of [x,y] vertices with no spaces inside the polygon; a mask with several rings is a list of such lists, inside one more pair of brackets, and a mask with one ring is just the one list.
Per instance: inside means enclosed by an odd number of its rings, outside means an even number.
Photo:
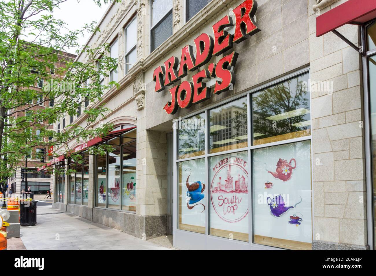
[{"label": "light grey concrete sidewalk beside the storefront", "polygon": [[158,244],[53,209],[37,207],[35,226],[21,227],[26,250],[169,250]]}]

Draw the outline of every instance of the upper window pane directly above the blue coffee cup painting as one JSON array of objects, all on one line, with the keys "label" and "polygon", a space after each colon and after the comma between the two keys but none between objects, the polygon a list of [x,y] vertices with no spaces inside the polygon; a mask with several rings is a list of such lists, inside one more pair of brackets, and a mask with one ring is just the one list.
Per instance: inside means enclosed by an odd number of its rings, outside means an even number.
[{"label": "upper window pane directly above the blue coffee cup painting", "polygon": [[205,113],[176,122],[179,159],[205,154]]}]

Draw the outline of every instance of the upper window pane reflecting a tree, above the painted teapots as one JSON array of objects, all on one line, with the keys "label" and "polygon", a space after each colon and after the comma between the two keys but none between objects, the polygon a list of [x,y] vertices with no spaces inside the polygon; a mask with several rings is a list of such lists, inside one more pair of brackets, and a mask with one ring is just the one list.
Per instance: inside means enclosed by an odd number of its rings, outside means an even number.
[{"label": "upper window pane reflecting a tree, above the painted teapots", "polygon": [[311,134],[309,74],[252,94],[253,145]]}]

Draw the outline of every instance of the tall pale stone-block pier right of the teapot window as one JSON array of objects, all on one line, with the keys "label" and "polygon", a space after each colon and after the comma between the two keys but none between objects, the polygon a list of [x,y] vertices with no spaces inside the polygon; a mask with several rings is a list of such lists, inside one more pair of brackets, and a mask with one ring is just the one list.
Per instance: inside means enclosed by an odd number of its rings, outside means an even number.
[{"label": "tall pale stone-block pier right of the teapot window", "polygon": [[[328,1],[325,1],[328,2]],[[334,8],[340,2],[320,11]],[[314,190],[312,249],[369,249],[361,55],[309,15]],[[337,29],[359,45],[358,27]],[[372,218],[368,218],[372,219]]]}]

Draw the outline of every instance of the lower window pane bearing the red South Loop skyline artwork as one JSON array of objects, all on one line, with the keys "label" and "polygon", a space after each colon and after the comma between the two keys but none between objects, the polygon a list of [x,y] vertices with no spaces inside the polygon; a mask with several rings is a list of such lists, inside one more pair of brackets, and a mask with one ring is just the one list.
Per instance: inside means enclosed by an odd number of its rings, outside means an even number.
[{"label": "lower window pane bearing the red South Loop skyline artwork", "polygon": [[209,235],[248,241],[247,151],[209,158]]}]

